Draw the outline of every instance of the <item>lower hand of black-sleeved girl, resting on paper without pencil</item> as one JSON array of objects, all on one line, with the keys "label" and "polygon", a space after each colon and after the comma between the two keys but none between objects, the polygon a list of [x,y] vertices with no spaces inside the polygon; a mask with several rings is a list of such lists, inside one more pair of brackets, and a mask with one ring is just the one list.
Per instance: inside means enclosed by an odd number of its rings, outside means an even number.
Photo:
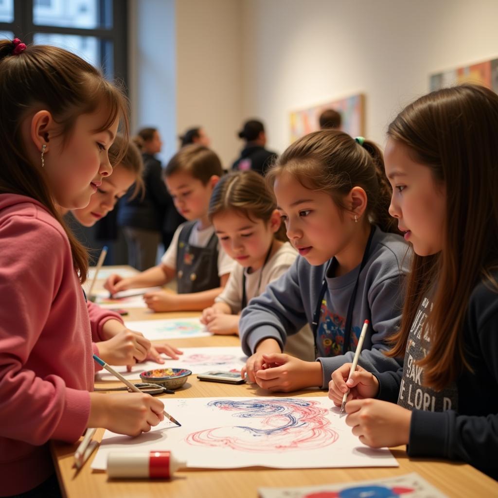
[{"label": "lower hand of black-sleeved girl, resting on paper without pencil", "polygon": [[411,411],[379,399],[355,399],[346,403],[346,423],[353,434],[372,448],[408,444]]}]

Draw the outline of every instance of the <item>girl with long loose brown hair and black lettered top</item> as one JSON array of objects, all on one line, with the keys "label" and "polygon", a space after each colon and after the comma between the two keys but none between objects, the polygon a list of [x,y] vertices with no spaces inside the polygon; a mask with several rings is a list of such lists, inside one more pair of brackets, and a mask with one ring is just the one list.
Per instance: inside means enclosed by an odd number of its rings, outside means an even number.
[{"label": "girl with long loose brown hair and black lettered top", "polygon": [[[350,365],[329,396],[372,447],[463,460],[498,479],[498,96],[462,85],[407,106],[387,130],[389,208],[415,256],[383,373]],[[374,399],[372,399],[374,398]],[[396,403],[397,402],[397,403]]]}]

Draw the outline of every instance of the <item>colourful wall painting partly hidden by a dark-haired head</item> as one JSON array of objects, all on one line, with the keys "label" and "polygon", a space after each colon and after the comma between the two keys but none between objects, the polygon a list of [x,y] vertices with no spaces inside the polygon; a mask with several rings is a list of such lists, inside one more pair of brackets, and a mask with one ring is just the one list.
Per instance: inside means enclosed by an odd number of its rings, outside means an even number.
[{"label": "colourful wall painting partly hidden by a dark-haired head", "polygon": [[346,133],[349,133],[351,136],[362,136],[365,134],[365,96],[358,94],[301,111],[291,112],[291,142],[312,131],[318,130],[318,119],[320,118],[320,114],[326,109],[334,109],[334,111],[341,114],[341,129]]}]

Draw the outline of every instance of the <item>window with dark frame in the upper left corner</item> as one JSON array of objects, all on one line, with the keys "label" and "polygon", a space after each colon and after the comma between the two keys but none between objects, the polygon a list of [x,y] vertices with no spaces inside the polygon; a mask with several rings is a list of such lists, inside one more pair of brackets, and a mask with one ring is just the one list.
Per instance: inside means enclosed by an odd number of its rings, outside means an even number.
[{"label": "window with dark frame in the upper left corner", "polygon": [[0,38],[56,45],[127,88],[127,0],[0,0]]}]

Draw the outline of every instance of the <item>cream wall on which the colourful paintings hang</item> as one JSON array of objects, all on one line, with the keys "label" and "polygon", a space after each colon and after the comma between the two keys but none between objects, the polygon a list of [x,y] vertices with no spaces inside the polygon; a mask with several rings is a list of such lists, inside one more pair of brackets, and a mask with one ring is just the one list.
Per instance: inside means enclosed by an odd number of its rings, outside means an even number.
[{"label": "cream wall on which the colourful paintings hang", "polygon": [[362,92],[366,136],[429,74],[498,56],[496,0],[243,0],[243,114],[289,142],[289,112]]}]

